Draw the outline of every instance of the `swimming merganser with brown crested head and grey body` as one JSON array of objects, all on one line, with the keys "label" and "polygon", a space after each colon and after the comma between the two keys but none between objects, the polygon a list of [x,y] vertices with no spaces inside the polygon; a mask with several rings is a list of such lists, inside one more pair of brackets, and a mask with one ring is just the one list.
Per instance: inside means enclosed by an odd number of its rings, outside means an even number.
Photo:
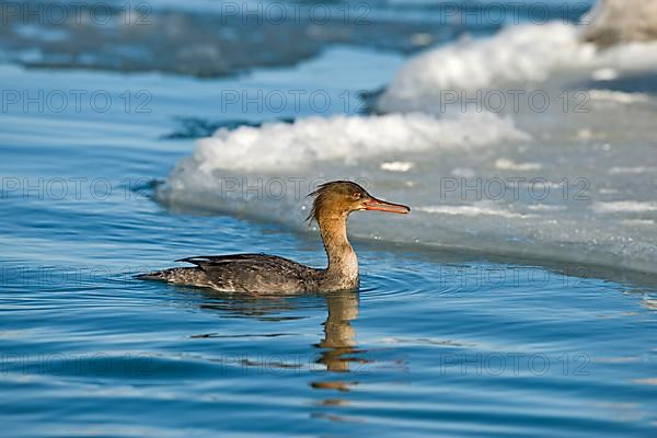
[{"label": "swimming merganser with brown crested head and grey body", "polygon": [[136,276],[175,285],[209,287],[228,292],[299,293],[356,290],[358,260],[347,239],[347,217],[353,211],[372,210],[407,214],[406,206],[371,196],[349,181],[333,181],[311,193],[314,197],[308,220],[315,220],[328,257],[326,268],[313,268],[288,258],[266,254],[232,254],[181,258],[193,267],[174,267]]}]

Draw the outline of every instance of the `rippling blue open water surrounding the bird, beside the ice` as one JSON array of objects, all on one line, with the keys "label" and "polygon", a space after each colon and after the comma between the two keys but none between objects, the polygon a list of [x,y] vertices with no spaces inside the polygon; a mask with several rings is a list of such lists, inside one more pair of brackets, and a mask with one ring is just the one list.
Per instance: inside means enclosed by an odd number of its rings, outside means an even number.
[{"label": "rippling blue open water surrounding the bird, beside the ice", "polygon": [[[354,78],[343,71],[353,54],[334,55],[343,66],[323,76],[266,70],[255,83],[331,77],[334,95],[376,87],[399,62]],[[208,115],[199,96],[221,83],[1,74],[5,89],[102,89],[115,102],[0,117],[3,436],[655,436],[653,276],[356,240],[358,292],[253,298],[138,281],[208,253],[325,260],[312,230],[152,199],[194,147],[166,138],[176,117]],[[125,111],[119,95],[142,87],[151,112]]]}]

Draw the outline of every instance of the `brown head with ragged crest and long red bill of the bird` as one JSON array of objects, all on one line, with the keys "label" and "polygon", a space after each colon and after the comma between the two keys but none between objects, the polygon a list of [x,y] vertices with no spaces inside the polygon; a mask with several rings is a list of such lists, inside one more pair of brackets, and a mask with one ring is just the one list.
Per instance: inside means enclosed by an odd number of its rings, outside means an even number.
[{"label": "brown head with ragged crest and long red bill of the bird", "polygon": [[387,203],[371,196],[365,188],[350,181],[324,183],[308,196],[314,197],[308,220],[320,221],[322,217],[344,217],[357,210],[378,210],[407,214],[411,209],[400,204]]}]

